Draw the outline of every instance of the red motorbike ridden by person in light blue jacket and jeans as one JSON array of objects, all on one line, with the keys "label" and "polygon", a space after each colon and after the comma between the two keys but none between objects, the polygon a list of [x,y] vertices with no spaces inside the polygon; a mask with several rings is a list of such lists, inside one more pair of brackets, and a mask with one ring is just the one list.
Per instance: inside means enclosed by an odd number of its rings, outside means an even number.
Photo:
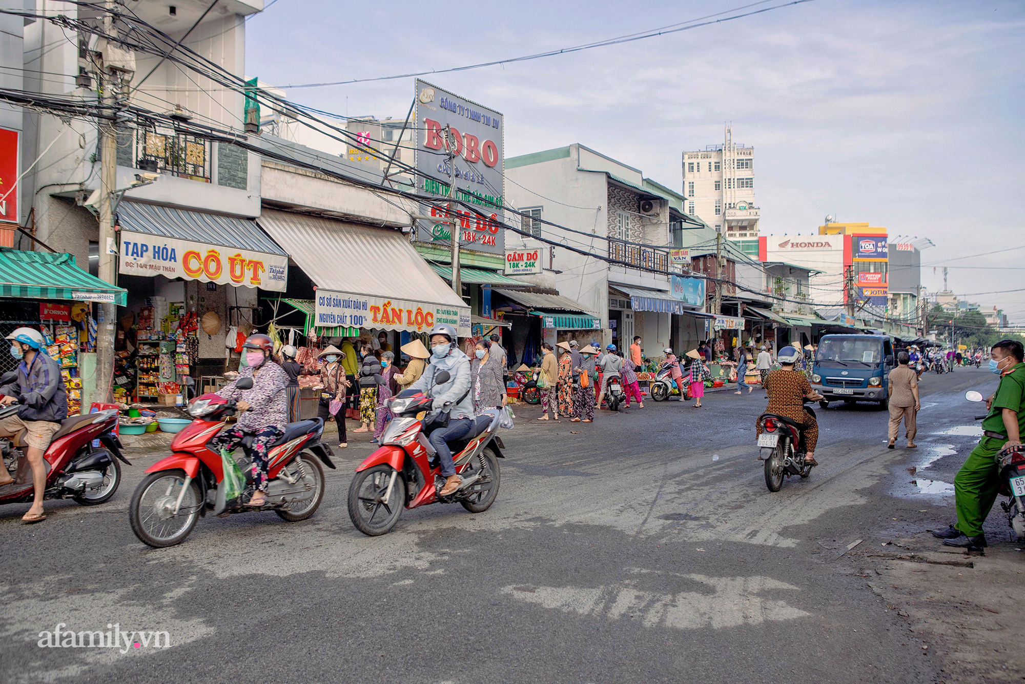
[{"label": "red motorbike ridden by person in light blue jacket and jeans", "polygon": [[[443,370],[435,385],[443,385],[450,377]],[[441,459],[424,430],[433,401],[429,391],[415,390],[405,390],[387,400],[395,417],[381,436],[381,446],[357,467],[348,487],[348,517],[368,536],[391,531],[404,508],[460,504],[470,513],[483,513],[498,496],[498,459],[505,457],[505,445],[495,434],[500,412],[492,409],[494,412],[478,416],[465,436],[449,442],[455,472],[462,483],[451,494],[442,496],[445,478]]]}]

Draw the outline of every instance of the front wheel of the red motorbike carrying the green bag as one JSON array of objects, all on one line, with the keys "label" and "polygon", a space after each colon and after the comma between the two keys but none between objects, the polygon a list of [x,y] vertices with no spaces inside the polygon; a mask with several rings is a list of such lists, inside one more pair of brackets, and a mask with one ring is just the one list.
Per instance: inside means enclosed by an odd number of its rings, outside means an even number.
[{"label": "front wheel of the red motorbike carrying the green bag", "polygon": [[135,487],[131,504],[128,505],[128,520],[131,522],[131,531],[135,532],[142,544],[155,549],[173,547],[184,541],[196,526],[202,501],[199,484],[195,480],[189,483],[189,488],[181,497],[178,515],[170,515],[184,480],[186,473],[182,470],[158,471],[146,476]]}]

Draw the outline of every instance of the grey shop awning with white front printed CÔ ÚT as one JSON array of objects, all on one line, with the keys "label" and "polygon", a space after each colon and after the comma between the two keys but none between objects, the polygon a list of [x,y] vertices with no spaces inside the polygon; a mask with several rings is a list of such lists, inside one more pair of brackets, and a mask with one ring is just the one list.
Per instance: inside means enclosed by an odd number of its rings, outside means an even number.
[{"label": "grey shop awning with white front printed C\u00d4 \u00daT", "polygon": [[252,220],[126,201],[118,225],[118,273],[276,292],[288,284],[288,253]]}]

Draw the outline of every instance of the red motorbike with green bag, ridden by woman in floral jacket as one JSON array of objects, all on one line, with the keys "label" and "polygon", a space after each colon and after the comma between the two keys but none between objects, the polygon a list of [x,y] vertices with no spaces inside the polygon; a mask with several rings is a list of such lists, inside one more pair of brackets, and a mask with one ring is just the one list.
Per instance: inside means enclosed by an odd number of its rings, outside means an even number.
[{"label": "red motorbike with green bag, ridden by woman in floral jacket", "polygon": [[[251,377],[236,384],[240,390],[252,388]],[[187,388],[195,385],[186,378]],[[188,391],[188,390],[187,390]],[[208,511],[224,517],[249,511],[274,511],[288,522],[312,516],[324,498],[324,469],[334,469],[334,455],[321,442],[323,418],[299,420],[285,426],[285,432],[271,445],[268,454],[266,502],[248,508],[254,493],[251,460],[248,454],[235,456],[245,477],[246,491],[233,500],[224,500],[224,469],[220,454],[207,444],[220,432],[230,416],[236,414],[234,399],[204,394],[192,401],[188,413],[193,421],[174,436],[171,455],[147,469],[128,507],[128,519],[135,536],[144,544],[161,549],[184,541],[199,518]],[[243,440],[247,451],[252,438]],[[219,496],[218,496],[219,494]],[[244,500],[243,500],[244,499]]]}]

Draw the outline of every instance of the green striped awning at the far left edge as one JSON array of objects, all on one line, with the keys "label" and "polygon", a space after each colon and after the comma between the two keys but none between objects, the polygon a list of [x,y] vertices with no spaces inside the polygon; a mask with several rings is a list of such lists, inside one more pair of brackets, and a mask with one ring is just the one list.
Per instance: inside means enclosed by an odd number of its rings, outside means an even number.
[{"label": "green striped awning at the far left edge", "polygon": [[22,299],[106,301],[122,307],[128,290],[90,276],[73,254],[0,247],[0,296]]}]

